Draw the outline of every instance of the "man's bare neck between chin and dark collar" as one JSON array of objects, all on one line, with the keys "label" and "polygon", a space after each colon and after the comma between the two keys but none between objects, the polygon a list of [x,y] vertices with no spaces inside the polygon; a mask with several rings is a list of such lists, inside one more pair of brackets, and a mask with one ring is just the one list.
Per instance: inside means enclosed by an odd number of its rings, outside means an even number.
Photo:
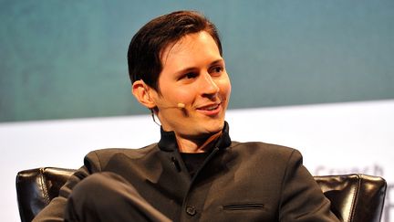
[{"label": "man's bare neck between chin and dark collar", "polygon": [[208,138],[191,140],[176,135],[176,140],[181,153],[204,153],[211,149],[213,142],[222,135],[222,131],[216,132]]}]

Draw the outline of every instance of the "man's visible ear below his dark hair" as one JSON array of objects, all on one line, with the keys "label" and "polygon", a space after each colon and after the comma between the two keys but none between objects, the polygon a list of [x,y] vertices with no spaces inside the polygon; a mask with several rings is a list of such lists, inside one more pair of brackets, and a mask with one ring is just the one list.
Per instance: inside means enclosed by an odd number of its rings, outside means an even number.
[{"label": "man's visible ear below his dark hair", "polygon": [[140,103],[148,109],[156,107],[156,103],[150,94],[156,93],[143,80],[136,80],[132,84],[131,92]]}]

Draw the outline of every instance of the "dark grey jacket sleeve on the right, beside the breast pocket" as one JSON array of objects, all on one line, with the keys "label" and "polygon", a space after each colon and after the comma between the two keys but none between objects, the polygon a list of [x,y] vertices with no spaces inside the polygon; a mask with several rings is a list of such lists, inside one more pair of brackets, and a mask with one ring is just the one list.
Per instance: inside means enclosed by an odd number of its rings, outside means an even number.
[{"label": "dark grey jacket sleeve on the right, beside the breast pocket", "polygon": [[288,159],[281,190],[279,221],[339,221],[330,211],[329,200],[303,165],[301,153],[296,150]]}]

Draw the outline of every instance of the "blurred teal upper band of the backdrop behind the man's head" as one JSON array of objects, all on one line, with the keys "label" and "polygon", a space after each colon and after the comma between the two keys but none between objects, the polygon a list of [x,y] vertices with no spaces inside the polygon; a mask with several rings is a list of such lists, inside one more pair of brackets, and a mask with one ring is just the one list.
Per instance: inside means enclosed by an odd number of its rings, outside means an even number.
[{"label": "blurred teal upper band of the backdrop behind the man's head", "polygon": [[394,99],[394,1],[1,1],[0,122],[148,113],[126,53],[151,18],[220,29],[230,109]]}]

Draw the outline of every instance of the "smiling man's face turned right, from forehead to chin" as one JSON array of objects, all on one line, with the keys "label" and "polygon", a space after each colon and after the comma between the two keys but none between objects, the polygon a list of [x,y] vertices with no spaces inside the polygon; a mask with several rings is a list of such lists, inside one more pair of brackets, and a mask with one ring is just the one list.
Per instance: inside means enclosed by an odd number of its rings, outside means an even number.
[{"label": "smiling man's face turned right, from forehead to chin", "polygon": [[164,49],[161,62],[161,94],[153,94],[163,129],[191,139],[220,132],[231,84],[213,37],[204,31],[182,37]]}]

